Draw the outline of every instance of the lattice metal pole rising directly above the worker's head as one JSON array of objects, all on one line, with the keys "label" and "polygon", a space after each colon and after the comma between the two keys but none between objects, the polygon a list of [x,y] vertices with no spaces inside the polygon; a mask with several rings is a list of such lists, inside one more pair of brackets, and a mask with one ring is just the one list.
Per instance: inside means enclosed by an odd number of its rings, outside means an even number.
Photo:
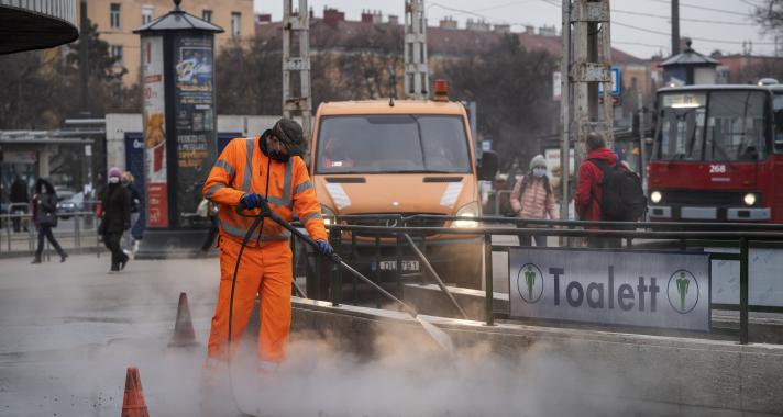
[{"label": "lattice metal pole rising directly above the worker's head", "polygon": [[[310,13],[307,0],[283,0],[283,116],[301,115],[305,138],[312,135],[310,94]],[[299,79],[299,89],[296,79]]]}]

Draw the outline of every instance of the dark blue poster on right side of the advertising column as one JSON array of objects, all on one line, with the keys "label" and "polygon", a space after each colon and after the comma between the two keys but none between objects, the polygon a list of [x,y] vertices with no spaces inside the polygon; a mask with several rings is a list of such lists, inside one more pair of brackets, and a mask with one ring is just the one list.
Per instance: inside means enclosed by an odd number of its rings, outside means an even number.
[{"label": "dark blue poster on right side of the advertising column", "polygon": [[196,208],[216,144],[212,37],[179,37],[175,50],[177,208],[179,226],[192,226],[206,222]]}]

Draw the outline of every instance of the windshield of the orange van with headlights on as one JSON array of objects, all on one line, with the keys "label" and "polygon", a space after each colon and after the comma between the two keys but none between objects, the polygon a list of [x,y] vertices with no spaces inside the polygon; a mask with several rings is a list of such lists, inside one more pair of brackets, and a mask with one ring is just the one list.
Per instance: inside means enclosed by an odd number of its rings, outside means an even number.
[{"label": "windshield of the orange van with headlights on", "polygon": [[471,172],[457,115],[323,117],[316,157],[318,173]]}]

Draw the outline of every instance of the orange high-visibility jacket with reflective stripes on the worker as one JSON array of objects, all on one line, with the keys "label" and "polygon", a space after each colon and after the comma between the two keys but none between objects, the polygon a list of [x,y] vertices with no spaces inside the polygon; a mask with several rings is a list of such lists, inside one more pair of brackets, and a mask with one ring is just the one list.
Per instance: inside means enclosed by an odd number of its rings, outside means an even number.
[{"label": "orange high-visibility jacket with reflective stripes on the worker", "polygon": [[[235,207],[245,193],[253,192],[262,196],[266,194],[269,207],[283,219],[290,222],[296,212],[312,239],[326,240],[327,229],[323,227],[321,205],[316,198],[305,161],[300,157],[291,157],[287,162],[269,160],[261,150],[260,140],[257,136],[231,140],[220,154],[203,184],[203,196],[220,205],[220,236],[242,243],[253,218],[238,215]],[[249,211],[250,213],[257,214],[258,211]],[[267,218],[264,229],[253,233],[249,246],[256,246],[258,233],[262,247],[272,241],[288,240],[290,237],[290,232]]]}]

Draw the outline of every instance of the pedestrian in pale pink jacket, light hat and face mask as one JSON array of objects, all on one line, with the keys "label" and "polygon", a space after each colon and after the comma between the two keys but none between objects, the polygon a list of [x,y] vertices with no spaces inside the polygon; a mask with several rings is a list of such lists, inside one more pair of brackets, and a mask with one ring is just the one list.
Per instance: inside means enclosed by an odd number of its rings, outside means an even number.
[{"label": "pedestrian in pale pink jacket, light hat and face mask", "polygon": [[[511,208],[519,218],[556,221],[560,218],[554,207],[552,185],[547,176],[547,160],[543,155],[536,155],[530,160],[530,170],[517,180],[510,196]],[[520,225],[536,227],[534,225]],[[536,246],[547,246],[547,236],[532,234]],[[520,246],[531,246],[530,234],[519,234]]]}]

